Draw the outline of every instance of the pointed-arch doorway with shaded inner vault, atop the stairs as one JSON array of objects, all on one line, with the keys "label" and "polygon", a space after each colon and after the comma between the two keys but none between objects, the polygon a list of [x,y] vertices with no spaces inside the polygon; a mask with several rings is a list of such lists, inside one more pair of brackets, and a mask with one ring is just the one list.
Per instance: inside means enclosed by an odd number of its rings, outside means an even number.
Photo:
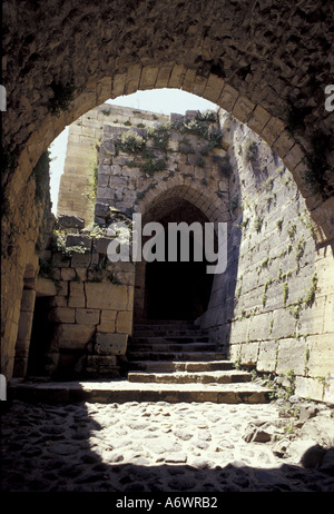
[{"label": "pointed-arch doorway with shaded inner vault, atop the stairs", "polygon": [[[137,264],[135,312],[137,319],[187,319],[202,316],[209,303],[213,275],[206,273],[205,255],[202,261],[194,256],[194,234],[189,230],[189,259],[181,260],[178,234],[177,258],[168,261],[169,224],[198,223],[203,227],[207,216],[190,201],[168,198],[156,204],[143,218],[144,224],[158,221],[165,229],[165,261]],[[143,240],[145,244],[145,239]]]}]

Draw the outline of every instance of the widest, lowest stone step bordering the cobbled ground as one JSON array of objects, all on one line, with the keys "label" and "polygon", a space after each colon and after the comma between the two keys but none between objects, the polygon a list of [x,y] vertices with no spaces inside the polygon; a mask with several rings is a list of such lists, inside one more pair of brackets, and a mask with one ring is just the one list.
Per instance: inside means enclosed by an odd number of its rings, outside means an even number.
[{"label": "widest, lowest stone step bordering the cobbled ground", "polygon": [[213,402],[268,403],[272,391],[242,384],[138,384],[128,380],[22,383],[10,386],[8,399],[42,403]]}]

